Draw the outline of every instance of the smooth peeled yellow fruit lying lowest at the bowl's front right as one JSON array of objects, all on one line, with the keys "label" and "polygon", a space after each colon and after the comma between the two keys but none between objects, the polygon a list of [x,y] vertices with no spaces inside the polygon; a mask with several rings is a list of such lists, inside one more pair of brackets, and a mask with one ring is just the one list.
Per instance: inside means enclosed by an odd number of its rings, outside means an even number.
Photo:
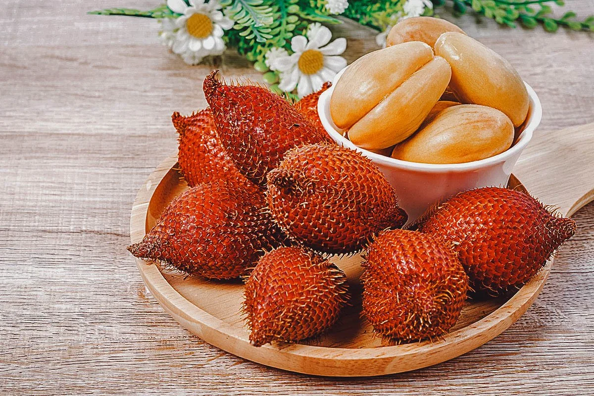
[{"label": "smooth peeled yellow fruit lying lowest at the bowl's front right", "polygon": [[433,121],[397,144],[392,158],[428,164],[478,161],[511,147],[514,126],[499,110],[460,104],[441,110]]}]

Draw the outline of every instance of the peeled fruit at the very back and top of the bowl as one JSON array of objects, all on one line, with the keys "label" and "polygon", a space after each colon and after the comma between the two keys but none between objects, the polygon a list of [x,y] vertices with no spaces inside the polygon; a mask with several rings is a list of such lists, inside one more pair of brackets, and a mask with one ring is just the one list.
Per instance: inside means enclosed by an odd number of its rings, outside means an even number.
[{"label": "peeled fruit at the very back and top of the bowl", "polygon": [[438,37],[446,31],[457,31],[466,34],[461,28],[443,19],[433,17],[406,18],[390,29],[386,39],[386,46],[420,41],[433,47]]}]

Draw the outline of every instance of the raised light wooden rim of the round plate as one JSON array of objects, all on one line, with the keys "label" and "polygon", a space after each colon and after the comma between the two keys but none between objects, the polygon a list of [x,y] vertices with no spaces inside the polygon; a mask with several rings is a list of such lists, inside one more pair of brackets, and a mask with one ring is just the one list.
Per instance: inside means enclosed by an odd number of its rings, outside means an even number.
[{"label": "raised light wooden rim of the round plate", "polygon": [[[132,243],[139,242],[145,235],[147,211],[150,199],[165,175],[168,172],[173,171],[176,162],[176,156],[168,157],[164,160],[157,169],[151,173],[149,178],[144,182],[143,187],[138,191],[137,197],[134,200],[134,205],[132,206],[132,214],[130,218]],[[572,211],[576,211],[578,208],[572,209]],[[510,327],[511,324],[526,312],[541,292],[546,278],[551,271],[552,264],[552,260],[547,262],[536,277],[522,287],[522,289],[514,294],[514,296],[500,308],[473,324],[444,335],[440,340],[397,346],[351,349],[304,344],[286,344],[283,346],[271,346],[270,344],[267,344],[266,346],[256,348],[249,344],[249,341],[246,338],[241,336],[238,328],[223,322],[206,311],[203,311],[173,289],[165,277],[163,277],[163,274],[159,271],[157,265],[151,264],[143,259],[135,260],[137,262],[138,270],[147,287],[149,287],[150,292],[153,293],[153,296],[155,296],[166,311],[176,319],[181,319],[180,322],[185,328],[199,335],[208,343],[236,354],[237,356],[244,357],[245,359],[295,372],[309,373],[313,375],[334,375],[332,372],[318,373],[315,370],[308,370],[307,365],[299,363],[292,365],[290,363],[291,359],[283,358],[283,356],[278,356],[280,359],[274,359],[274,362],[271,363],[268,359],[264,359],[263,356],[265,353],[263,353],[263,350],[266,350],[267,353],[285,356],[301,356],[306,359],[315,360],[341,360],[343,362],[382,360],[386,361],[384,363],[389,363],[396,358],[402,359],[403,357],[406,357],[408,359],[413,359],[413,357],[424,357],[424,359],[417,359],[418,362],[407,362],[404,370],[399,369],[398,366],[394,366],[386,371],[383,370],[383,368],[386,367],[386,364],[383,364],[378,365],[378,369],[380,369],[381,372],[350,373],[348,370],[346,370],[346,372],[345,370],[337,370],[337,375],[339,376],[373,376],[418,369],[444,362],[445,360],[460,356],[461,354],[481,346],[501,334],[501,332]],[[179,315],[179,312],[184,314]],[[187,323],[184,323],[185,321],[187,321]],[[190,329],[188,325],[191,323],[201,325],[202,331]],[[204,329],[204,326],[206,326],[207,329]],[[214,330],[214,333],[210,333],[208,330]],[[219,339],[210,337],[210,335],[214,336],[215,334],[223,335],[223,340],[226,340],[226,342],[219,342]],[[233,342],[228,340],[229,337],[233,338]]]}]

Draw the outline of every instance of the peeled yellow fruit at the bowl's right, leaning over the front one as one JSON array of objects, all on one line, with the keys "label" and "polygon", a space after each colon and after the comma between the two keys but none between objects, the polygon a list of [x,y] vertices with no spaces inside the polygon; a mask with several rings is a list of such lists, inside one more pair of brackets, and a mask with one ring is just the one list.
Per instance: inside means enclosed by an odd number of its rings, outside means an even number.
[{"label": "peeled yellow fruit at the bowl's right, leaning over the front one", "polygon": [[528,92],[510,62],[475,39],[452,31],[437,39],[435,53],[450,64],[450,88],[459,100],[501,110],[514,126],[524,122]]}]

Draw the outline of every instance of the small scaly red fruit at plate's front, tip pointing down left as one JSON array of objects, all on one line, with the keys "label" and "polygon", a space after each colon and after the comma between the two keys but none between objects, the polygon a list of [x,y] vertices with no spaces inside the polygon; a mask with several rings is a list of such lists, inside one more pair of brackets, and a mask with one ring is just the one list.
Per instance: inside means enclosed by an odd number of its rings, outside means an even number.
[{"label": "small scaly red fruit at plate's front, tip pointing down left", "polygon": [[311,251],[279,248],[260,259],[244,296],[252,344],[301,341],[339,319],[348,299],[346,275]]}]

